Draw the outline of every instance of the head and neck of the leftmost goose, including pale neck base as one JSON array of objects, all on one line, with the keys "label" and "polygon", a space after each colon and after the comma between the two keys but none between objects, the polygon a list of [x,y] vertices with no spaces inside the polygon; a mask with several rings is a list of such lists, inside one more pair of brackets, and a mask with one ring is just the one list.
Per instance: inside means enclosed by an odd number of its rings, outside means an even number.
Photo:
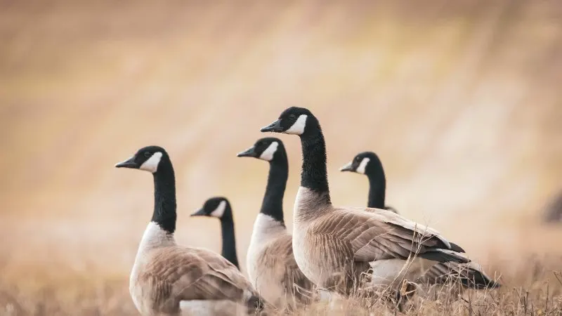
[{"label": "head and neck of the leftmost goose, including pale neck base", "polygon": [[143,236],[145,246],[161,246],[174,243],[176,231],[176,178],[170,157],[164,148],[143,147],[129,159],[115,165],[148,171],[154,178],[154,211]]}]

